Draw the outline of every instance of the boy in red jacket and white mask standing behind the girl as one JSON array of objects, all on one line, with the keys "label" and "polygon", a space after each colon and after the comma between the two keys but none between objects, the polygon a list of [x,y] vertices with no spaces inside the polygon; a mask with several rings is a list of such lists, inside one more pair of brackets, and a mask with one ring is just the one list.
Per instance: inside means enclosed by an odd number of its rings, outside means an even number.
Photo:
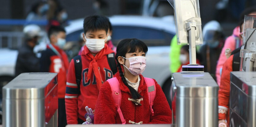
[{"label": "boy in red jacket and white mask standing behind the girl", "polygon": [[76,82],[73,59],[70,62],[67,77],[65,104],[68,124],[82,124],[86,121],[85,107],[88,106],[94,110],[101,85],[113,77],[107,55],[114,51],[105,44],[109,29],[108,18],[86,17],[83,27],[83,39],[86,44],[81,54],[82,75],[79,86]]}]

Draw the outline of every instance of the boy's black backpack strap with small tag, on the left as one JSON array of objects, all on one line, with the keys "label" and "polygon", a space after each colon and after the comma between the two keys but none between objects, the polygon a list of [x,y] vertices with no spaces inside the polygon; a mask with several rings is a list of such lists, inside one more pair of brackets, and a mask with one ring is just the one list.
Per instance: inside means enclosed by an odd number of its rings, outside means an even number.
[{"label": "boy's black backpack strap with small tag, on the left", "polygon": [[78,90],[80,92],[80,82],[81,82],[81,77],[82,77],[82,59],[81,59],[81,55],[77,55],[73,59],[74,59],[74,65],[75,65],[76,84],[77,84]]}]

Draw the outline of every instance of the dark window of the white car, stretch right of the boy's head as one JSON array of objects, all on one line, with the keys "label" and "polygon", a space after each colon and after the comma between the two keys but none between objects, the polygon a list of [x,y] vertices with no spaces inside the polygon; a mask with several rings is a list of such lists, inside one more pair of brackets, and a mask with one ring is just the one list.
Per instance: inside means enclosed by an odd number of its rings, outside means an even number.
[{"label": "dark window of the white car, stretch right of the boy's head", "polygon": [[166,46],[174,34],[145,27],[136,26],[113,26],[112,41],[117,45],[123,39],[137,38],[147,44],[147,46]]}]

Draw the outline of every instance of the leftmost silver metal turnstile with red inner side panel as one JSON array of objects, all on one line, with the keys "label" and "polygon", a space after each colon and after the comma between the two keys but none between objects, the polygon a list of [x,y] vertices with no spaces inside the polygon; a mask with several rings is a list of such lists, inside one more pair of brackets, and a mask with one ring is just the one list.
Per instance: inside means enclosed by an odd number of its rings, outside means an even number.
[{"label": "leftmost silver metal turnstile with red inner side panel", "polygon": [[57,73],[22,73],[3,87],[3,127],[57,127]]}]

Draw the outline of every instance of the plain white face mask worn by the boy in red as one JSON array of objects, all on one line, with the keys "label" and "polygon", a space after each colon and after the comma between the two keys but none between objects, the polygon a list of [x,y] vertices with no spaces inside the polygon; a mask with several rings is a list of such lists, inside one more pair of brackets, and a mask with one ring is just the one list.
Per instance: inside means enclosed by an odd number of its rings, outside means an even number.
[{"label": "plain white face mask worn by the boy in red", "polygon": [[[85,37],[85,36],[84,36]],[[106,37],[107,38],[107,37]],[[97,53],[99,51],[101,51],[101,49],[103,49],[105,47],[105,39],[90,39],[90,38],[86,38],[86,47],[93,53]]]}]

